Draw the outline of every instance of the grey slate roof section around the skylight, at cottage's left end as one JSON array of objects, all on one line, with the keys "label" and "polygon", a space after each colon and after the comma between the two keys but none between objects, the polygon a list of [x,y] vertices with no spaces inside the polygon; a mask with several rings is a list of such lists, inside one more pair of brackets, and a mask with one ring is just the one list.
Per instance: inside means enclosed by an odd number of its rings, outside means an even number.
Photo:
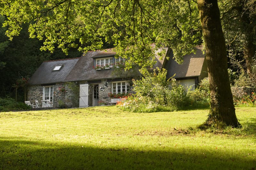
[{"label": "grey slate roof section around the skylight, at cottage's left end", "polygon": [[[50,84],[65,81],[79,58],[44,61],[29,79],[29,84]],[[63,65],[60,71],[52,71],[56,65]]]}]

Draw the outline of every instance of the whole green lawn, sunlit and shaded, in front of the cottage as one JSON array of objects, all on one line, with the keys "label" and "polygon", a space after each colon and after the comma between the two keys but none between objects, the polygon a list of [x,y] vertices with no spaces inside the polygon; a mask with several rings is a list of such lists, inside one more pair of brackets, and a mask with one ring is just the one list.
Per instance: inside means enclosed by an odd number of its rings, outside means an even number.
[{"label": "whole green lawn, sunlit and shaded, in front of the cottage", "polygon": [[196,129],[207,114],[116,106],[1,112],[0,169],[256,168],[256,108],[236,108],[242,129]]}]

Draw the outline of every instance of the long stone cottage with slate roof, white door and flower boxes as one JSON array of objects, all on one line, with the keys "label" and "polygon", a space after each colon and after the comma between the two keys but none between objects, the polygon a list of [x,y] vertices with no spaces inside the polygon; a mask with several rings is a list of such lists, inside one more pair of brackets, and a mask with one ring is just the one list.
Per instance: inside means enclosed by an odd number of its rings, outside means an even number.
[{"label": "long stone cottage with slate roof, white door and flower boxes", "polygon": [[[180,84],[195,88],[207,76],[202,47],[196,47],[196,54],[184,56],[182,65],[172,59],[171,49],[163,47],[159,50],[163,49],[164,57],[155,53],[154,67],[166,68],[167,78],[176,74],[175,78]],[[132,88],[132,78],[140,76],[138,70],[124,72],[124,59],[115,55],[113,49],[106,49],[89,51],[79,58],[44,61],[28,82],[28,100],[31,103],[50,100],[54,107],[63,103],[69,107],[108,104],[109,94],[128,93]],[[169,60],[166,60],[167,56]]]}]

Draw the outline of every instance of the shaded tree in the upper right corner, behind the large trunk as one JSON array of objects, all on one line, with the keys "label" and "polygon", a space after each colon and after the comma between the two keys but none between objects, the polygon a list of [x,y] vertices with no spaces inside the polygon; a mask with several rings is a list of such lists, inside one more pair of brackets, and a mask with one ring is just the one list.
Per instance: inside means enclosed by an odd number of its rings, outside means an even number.
[{"label": "shaded tree in the upper right corner, behind the large trunk", "polygon": [[243,53],[247,74],[252,77],[253,58],[256,55],[256,1],[220,0],[219,4],[230,54]]}]

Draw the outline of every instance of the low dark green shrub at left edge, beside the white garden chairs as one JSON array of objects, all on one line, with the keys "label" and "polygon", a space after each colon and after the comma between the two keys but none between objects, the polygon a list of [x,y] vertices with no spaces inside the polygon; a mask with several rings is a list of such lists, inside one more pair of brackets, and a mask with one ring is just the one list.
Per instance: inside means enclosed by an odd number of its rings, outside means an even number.
[{"label": "low dark green shrub at left edge, beside the white garden chairs", "polygon": [[15,102],[12,98],[0,98],[0,111],[11,111],[11,110],[27,110],[31,109],[25,103]]}]

